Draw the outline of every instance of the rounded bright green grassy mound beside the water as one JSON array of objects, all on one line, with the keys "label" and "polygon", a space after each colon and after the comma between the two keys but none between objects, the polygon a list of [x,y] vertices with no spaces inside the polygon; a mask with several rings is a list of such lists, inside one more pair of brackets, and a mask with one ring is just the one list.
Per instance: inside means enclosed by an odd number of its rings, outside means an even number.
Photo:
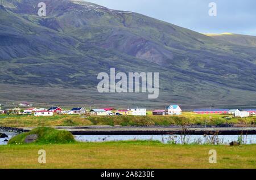
[{"label": "rounded bright green grassy mound beside the water", "polygon": [[23,132],[10,139],[8,144],[25,144],[25,139],[28,135],[38,136],[38,139],[34,143],[38,144],[67,144],[75,142],[75,139],[71,132],[56,130],[51,127],[38,127],[34,128],[30,132]]}]

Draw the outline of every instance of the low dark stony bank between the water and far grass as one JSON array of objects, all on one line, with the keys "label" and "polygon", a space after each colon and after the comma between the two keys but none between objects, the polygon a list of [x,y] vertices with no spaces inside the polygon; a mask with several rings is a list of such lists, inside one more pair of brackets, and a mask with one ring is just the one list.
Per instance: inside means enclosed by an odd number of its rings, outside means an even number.
[{"label": "low dark stony bank between the water and far grass", "polygon": [[[30,131],[34,127],[24,127]],[[73,135],[256,135],[256,127],[122,127],[122,126],[64,126]]]}]

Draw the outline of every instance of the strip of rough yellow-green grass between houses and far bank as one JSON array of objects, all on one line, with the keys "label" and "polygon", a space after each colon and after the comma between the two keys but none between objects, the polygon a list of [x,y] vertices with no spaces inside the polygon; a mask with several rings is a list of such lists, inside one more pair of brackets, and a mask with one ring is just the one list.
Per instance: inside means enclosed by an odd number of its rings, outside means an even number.
[{"label": "strip of rough yellow-green grass between houses and far bank", "polygon": [[170,126],[170,125],[255,125],[256,117],[226,119],[230,115],[184,113],[179,116],[87,116],[53,115],[34,117],[34,115],[0,115],[0,126],[38,127],[38,126]]}]

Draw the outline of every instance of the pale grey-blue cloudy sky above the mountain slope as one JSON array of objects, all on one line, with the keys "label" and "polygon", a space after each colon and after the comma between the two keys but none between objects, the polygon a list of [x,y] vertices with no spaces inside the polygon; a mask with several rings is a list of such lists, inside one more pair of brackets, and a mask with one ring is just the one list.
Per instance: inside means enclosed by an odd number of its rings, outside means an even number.
[{"label": "pale grey-blue cloudy sky above the mountain slope", "polygon": [[[133,11],[200,33],[256,36],[255,0],[86,0],[114,10]],[[209,3],[216,3],[210,16]]]}]

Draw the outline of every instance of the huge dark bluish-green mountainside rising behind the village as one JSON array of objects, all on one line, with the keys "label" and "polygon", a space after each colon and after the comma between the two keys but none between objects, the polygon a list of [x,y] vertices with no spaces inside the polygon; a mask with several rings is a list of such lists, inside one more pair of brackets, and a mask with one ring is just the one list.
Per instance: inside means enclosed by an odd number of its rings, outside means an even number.
[{"label": "huge dark bluish-green mountainside rising behind the village", "polygon": [[[184,108],[255,106],[255,37],[206,36],[135,12],[84,1],[0,1],[0,101]],[[240,35],[242,36],[242,35]],[[247,42],[250,42],[250,45]],[[159,72],[159,98],[102,94],[111,67]]]}]

